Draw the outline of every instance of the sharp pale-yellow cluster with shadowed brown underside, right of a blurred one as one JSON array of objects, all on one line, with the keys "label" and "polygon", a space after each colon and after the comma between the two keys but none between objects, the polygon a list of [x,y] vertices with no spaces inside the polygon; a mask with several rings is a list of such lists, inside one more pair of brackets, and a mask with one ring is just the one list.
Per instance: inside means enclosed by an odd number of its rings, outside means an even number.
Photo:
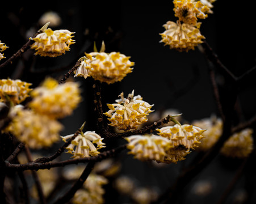
[{"label": "sharp pale-yellow cluster with shadowed brown underside, right of a blurred one", "polygon": [[162,137],[168,138],[173,146],[166,152],[165,163],[177,163],[184,160],[191,149],[198,147],[200,140],[204,138],[202,134],[205,130],[193,125],[175,124],[157,129],[157,131]]}]

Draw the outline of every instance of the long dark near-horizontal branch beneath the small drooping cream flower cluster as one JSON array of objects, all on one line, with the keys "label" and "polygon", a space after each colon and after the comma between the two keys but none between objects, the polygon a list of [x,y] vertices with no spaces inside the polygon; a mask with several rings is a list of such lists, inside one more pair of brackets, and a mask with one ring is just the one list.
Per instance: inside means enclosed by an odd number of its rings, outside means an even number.
[{"label": "long dark near-horizontal branch beneath the small drooping cream flower cluster", "polygon": [[50,169],[53,167],[64,167],[65,165],[86,163],[86,162],[100,162],[103,159],[106,159],[111,156],[115,156],[122,150],[126,148],[127,145],[122,145],[116,148],[113,148],[108,151],[104,151],[97,156],[91,156],[88,158],[79,158],[79,159],[69,159],[62,162],[51,162],[51,163],[35,163],[29,162],[27,164],[11,164],[6,161],[6,169],[15,169],[16,171],[25,171],[25,170],[38,170],[38,169]]}]

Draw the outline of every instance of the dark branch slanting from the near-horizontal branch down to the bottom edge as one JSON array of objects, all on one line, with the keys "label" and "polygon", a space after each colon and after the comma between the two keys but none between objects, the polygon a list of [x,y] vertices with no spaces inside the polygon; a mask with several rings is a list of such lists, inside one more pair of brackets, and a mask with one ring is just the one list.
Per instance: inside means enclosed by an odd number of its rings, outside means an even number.
[{"label": "dark branch slanting from the near-horizontal branch down to the bottom edge", "polygon": [[77,192],[78,189],[80,189],[83,186],[83,183],[86,181],[87,177],[90,175],[91,171],[93,170],[95,162],[89,162],[85,170],[83,170],[82,175],[79,177],[79,179],[74,183],[72,188],[69,189],[68,192],[64,194],[61,198],[58,198],[54,204],[62,204],[70,201],[74,197],[75,192]]}]

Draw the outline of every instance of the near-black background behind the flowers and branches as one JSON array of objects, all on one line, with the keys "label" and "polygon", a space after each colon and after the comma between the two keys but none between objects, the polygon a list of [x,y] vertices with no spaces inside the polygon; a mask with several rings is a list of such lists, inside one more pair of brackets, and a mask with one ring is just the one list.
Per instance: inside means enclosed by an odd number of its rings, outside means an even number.
[{"label": "near-black background behind the flowers and branches", "polygon": [[[214,13],[209,14],[207,19],[200,20],[202,35],[221,62],[236,76],[255,66],[254,8],[249,3],[242,6],[240,4],[217,0],[213,3]],[[61,16],[61,25],[52,29],[69,29],[75,32],[76,41],[70,46],[69,52],[57,58],[33,56],[33,50],[28,50],[19,61],[0,70],[1,78],[20,78],[33,83],[33,87],[38,86],[47,75],[60,79],[79,57],[84,56],[84,52],[93,52],[94,41],[100,48],[104,40],[106,52],[121,52],[131,56],[135,66],[133,72],[121,82],[108,86],[102,84],[103,104],[114,103],[122,91],[127,96],[135,90],[135,95],[141,95],[149,104],[154,104],[154,110],[176,109],[186,121],[209,117],[213,113],[219,116],[205,56],[197,48],[181,53],[160,43],[159,33],[164,31],[162,25],[168,20],[177,20],[172,1],[9,1],[0,10],[0,40],[9,46],[4,52],[6,58],[25,44],[28,36],[32,36],[27,35],[27,31],[33,33],[40,28],[38,20],[46,11],[56,11]],[[51,24],[49,27],[51,28]],[[89,31],[87,34],[86,30]],[[1,63],[5,60],[2,59]],[[228,97],[224,76],[223,70],[216,70],[223,101]],[[83,102],[72,116],[62,120],[65,125],[63,135],[74,133],[83,121],[86,121],[86,130],[95,129],[91,89],[93,82],[90,78],[74,80],[81,83]],[[240,111],[235,121],[241,122],[255,114],[255,71],[242,80],[238,91]],[[103,106],[103,111],[107,111],[106,106]],[[116,143],[113,142],[112,145],[115,146]],[[184,163],[189,163],[190,157],[193,154],[188,155]],[[240,163],[241,160],[217,156],[185,188],[181,193],[181,200],[183,203],[216,203]],[[123,162],[122,173],[132,175],[141,185],[157,186],[161,191],[174,181],[182,165],[185,164],[170,164],[160,169],[148,167],[148,164],[128,157]],[[246,173],[226,203],[234,203],[234,196],[246,189],[248,177],[249,180],[255,180],[250,171]],[[195,182],[200,180],[209,181],[213,185],[212,192],[207,196],[195,196],[192,192]],[[251,189],[253,188],[255,189],[255,185]],[[116,200],[113,197],[106,199],[112,203],[124,203],[121,202],[124,199],[119,197],[115,197]]]}]

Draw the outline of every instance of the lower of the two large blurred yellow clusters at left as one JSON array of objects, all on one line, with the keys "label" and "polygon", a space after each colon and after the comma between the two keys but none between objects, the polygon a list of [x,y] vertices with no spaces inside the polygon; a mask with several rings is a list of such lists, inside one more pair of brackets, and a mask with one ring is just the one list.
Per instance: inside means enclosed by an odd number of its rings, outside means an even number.
[{"label": "lower of the two large blurred yellow clusters at left", "polygon": [[62,125],[47,116],[17,105],[11,110],[12,121],[5,129],[31,148],[49,147],[60,139]]}]

